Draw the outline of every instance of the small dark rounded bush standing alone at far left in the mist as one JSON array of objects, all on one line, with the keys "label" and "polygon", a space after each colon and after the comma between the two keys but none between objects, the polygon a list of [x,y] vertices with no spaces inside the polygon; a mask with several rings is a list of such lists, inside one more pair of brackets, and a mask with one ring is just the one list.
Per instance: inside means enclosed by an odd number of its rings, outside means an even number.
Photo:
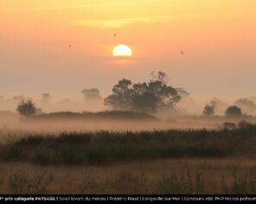
[{"label": "small dark rounded bush standing alone at far left in the mist", "polygon": [[22,99],[18,103],[16,111],[19,112],[22,116],[29,117],[35,115],[36,107],[32,99]]}]

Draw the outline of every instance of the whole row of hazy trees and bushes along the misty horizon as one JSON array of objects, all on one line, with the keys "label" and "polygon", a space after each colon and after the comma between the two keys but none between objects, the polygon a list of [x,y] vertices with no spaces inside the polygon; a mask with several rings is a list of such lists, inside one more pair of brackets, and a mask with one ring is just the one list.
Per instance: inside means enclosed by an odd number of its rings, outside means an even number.
[{"label": "whole row of hazy trees and bushes along the misty horizon", "polygon": [[[83,89],[81,93],[86,99],[102,99],[99,89]],[[112,93],[104,99],[104,105],[109,106],[115,111],[146,112],[157,113],[160,110],[165,112],[176,112],[176,105],[182,98],[189,96],[183,88],[176,88],[169,85],[168,77],[163,72],[151,73],[151,80],[143,83],[132,83],[131,80],[119,80],[118,84],[112,87]],[[42,100],[48,101],[51,95],[47,92],[42,93]],[[239,99],[238,105],[250,105],[253,102],[248,99]],[[202,114],[207,117],[214,116],[216,101],[211,101],[205,105]],[[255,105],[256,107],[256,105]],[[19,97],[16,111],[23,116],[32,116],[40,109],[36,108],[32,99]],[[227,107],[225,112],[227,117],[241,117],[241,108],[237,105]]]}]

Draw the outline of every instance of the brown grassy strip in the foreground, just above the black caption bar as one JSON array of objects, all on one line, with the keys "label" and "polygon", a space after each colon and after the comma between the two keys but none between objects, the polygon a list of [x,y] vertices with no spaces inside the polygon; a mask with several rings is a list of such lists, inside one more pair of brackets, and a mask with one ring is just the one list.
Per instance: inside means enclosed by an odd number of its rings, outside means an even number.
[{"label": "brown grassy strip in the foreground, just above the black caption bar", "polygon": [[3,163],[1,194],[256,194],[253,159],[172,159],[114,165]]}]

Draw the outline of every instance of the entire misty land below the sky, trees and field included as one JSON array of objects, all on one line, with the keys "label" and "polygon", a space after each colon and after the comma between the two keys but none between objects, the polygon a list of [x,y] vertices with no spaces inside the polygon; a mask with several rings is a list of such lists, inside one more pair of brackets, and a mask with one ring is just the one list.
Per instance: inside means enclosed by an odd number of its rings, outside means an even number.
[{"label": "entire misty land below the sky, trees and field included", "polygon": [[255,194],[255,98],[195,100],[151,76],[105,97],[1,97],[0,193]]}]

